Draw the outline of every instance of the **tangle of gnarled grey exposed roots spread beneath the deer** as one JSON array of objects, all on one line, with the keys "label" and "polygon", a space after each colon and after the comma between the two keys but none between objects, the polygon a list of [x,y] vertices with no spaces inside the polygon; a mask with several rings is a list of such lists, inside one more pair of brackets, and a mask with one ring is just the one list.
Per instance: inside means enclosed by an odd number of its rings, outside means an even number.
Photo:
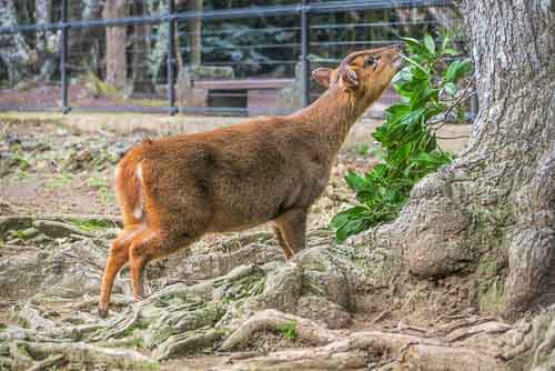
[{"label": "tangle of gnarled grey exposed roots spread beneath the deer", "polygon": [[[88,241],[92,240],[61,245],[46,265],[62,263],[80,274],[87,271],[100,277],[101,269],[95,265],[105,248]],[[268,353],[232,354],[226,358],[231,364],[216,365],[215,370],[502,370],[513,360],[531,365],[532,360],[521,361],[523,353],[533,355],[535,351],[538,367],[551,357],[555,330],[547,331],[549,315],[534,325],[464,315],[443,319],[446,323],[431,331],[403,320],[392,332],[336,330],[349,325],[349,309],[356,300],[353,288],[357,280],[365,280],[359,267],[344,259],[347,253],[346,248],[316,247],[287,263],[239,265],[196,284],[172,284],[139,303],[114,294],[108,320],[91,314],[95,295],[83,298],[81,293],[82,300],[64,304],[60,301],[69,299],[50,295],[58,303],[56,310],[44,308],[48,301],[39,301],[12,317],[19,325],[0,327],[0,369],[61,363],[78,369],[87,364],[144,369],[183,355],[241,351],[258,341],[268,344]],[[39,260],[32,261],[31,269],[44,265]],[[61,277],[70,275],[62,272]],[[416,294],[407,298],[404,302],[414,302]],[[119,310],[122,304],[128,307]],[[381,313],[373,324],[390,312]],[[417,335],[403,334],[407,330]],[[283,350],[290,345],[304,348]],[[222,355],[221,362],[224,360]]]}]

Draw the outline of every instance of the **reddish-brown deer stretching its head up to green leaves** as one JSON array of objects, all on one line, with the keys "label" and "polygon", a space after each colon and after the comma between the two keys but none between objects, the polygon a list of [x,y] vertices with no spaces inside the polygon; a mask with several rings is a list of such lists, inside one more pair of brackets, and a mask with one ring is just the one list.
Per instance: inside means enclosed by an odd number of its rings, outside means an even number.
[{"label": "reddish-brown deer stretching its head up to green leaves", "polygon": [[110,248],[99,314],[108,315],[113,280],[127,262],[141,300],[145,264],[205,233],[271,221],[285,259],[302,250],[309,208],[324,191],[351,126],[390,86],[401,49],[359,51],[335,70],[316,69],[313,77],[329,89],[291,116],[131,149],[115,170],[124,229]]}]

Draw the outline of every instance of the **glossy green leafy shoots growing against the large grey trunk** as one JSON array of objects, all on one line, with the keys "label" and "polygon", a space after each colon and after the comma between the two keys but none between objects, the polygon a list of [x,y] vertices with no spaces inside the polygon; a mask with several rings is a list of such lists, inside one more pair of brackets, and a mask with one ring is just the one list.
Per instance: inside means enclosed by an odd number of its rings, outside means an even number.
[{"label": "glossy green leafy shoots growing against the large grey trunk", "polygon": [[[339,241],[393,220],[408,200],[413,186],[453,160],[437,146],[438,128],[434,124],[443,124],[470,97],[470,84],[464,89],[458,86],[468,74],[471,62],[444,61],[446,56],[456,54],[448,37],[441,46],[430,34],[423,42],[404,40],[411,57],[404,57],[407,66],[392,82],[402,101],[386,110],[385,122],[373,133],[380,143],[381,163],[366,174],[350,171],[345,177],[360,204],[333,218]],[[457,119],[462,117],[456,114]]]}]

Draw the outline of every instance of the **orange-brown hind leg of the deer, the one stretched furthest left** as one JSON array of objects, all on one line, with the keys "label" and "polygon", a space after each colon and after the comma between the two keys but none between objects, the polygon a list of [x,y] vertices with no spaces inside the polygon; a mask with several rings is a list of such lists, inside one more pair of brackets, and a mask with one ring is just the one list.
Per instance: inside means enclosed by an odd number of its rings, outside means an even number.
[{"label": "orange-brown hind leg of the deer, the one stretched furthest left", "polygon": [[129,248],[133,238],[140,232],[140,225],[125,227],[123,231],[112,241],[108,260],[102,275],[102,285],[100,288],[99,315],[108,315],[108,305],[112,293],[113,281],[121,268],[129,260]]}]

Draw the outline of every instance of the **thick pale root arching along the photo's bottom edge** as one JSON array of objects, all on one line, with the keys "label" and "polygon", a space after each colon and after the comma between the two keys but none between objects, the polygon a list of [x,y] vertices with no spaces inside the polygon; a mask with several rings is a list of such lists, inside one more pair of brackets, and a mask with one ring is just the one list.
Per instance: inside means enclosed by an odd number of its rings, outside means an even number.
[{"label": "thick pale root arching along the photo's bottom edge", "polygon": [[[336,337],[337,338],[337,337]],[[391,355],[394,355],[392,359]],[[387,361],[383,362],[383,359]],[[231,360],[235,361],[235,360]],[[494,357],[440,340],[359,332],[327,345],[272,352],[214,370],[504,370]]]}]

